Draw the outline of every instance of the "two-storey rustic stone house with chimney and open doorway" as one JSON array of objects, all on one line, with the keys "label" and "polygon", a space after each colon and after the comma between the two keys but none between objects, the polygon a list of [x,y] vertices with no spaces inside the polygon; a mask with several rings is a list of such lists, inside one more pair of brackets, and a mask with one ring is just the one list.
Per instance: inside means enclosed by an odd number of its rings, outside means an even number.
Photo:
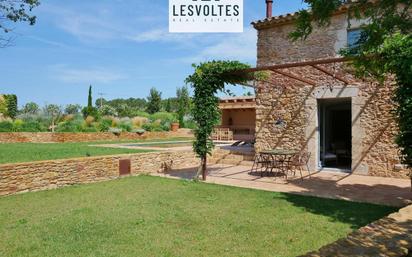
[{"label": "two-storey rustic stone house with chimney and open doorway", "polygon": [[[348,28],[342,7],[330,27],[315,28],[305,41],[291,42],[296,14],[272,17],[272,1],[266,2],[267,17],[252,23],[258,33],[258,69],[336,58],[359,38],[361,22],[352,21]],[[379,85],[356,79],[344,62],[272,70],[270,79],[255,88],[255,150],[308,151],[309,165],[317,171],[406,177],[394,141],[393,88],[390,80]]]}]

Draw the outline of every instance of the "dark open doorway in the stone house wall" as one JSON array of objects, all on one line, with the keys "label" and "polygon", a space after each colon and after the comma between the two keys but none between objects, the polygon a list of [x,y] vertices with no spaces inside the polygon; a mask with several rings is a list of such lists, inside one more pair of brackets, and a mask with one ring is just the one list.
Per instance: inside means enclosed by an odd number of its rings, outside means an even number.
[{"label": "dark open doorway in the stone house wall", "polygon": [[350,171],[352,104],[350,98],[318,100],[319,166]]}]

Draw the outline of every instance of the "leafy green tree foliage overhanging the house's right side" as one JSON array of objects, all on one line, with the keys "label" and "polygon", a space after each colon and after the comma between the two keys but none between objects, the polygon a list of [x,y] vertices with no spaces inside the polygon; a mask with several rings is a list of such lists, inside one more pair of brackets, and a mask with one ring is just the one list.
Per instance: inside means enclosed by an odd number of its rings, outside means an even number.
[{"label": "leafy green tree foliage overhanging the house's right side", "polygon": [[[399,126],[396,142],[412,167],[412,0],[304,0],[310,11],[298,14],[293,40],[306,39],[313,26],[326,27],[332,14],[347,4],[348,18],[367,20],[355,49],[343,49],[353,58],[359,77],[373,77],[383,82],[388,74],[396,76],[395,113]],[[349,22],[350,26],[350,22]],[[412,172],[411,172],[412,183]]]}]

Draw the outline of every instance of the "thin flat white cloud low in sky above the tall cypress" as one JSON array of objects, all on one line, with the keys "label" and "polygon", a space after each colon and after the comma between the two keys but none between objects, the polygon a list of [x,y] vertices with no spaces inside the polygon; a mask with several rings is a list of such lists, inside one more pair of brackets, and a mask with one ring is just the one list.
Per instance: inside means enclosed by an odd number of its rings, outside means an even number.
[{"label": "thin flat white cloud low in sky above the tall cypress", "polygon": [[65,65],[51,67],[53,78],[67,83],[103,83],[126,79],[128,76],[109,68],[68,68]]}]

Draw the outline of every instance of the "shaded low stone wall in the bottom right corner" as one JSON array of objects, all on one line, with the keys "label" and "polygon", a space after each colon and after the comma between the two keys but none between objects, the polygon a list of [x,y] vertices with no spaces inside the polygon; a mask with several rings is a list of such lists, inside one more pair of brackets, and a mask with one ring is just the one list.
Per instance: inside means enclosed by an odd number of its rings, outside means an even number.
[{"label": "shaded low stone wall in the bottom right corner", "polygon": [[412,256],[412,205],[303,256]]}]

